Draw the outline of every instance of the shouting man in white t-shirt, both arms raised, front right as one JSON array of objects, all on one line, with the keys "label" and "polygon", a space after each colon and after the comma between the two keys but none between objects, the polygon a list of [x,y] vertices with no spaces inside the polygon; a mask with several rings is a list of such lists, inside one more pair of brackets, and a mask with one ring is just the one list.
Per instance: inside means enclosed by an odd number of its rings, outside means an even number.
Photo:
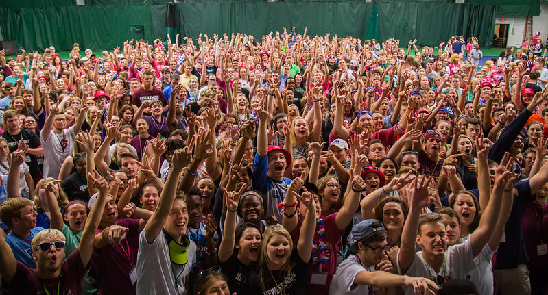
[{"label": "shouting man in white t-shirt, both arms raised, front right", "polygon": [[[425,207],[434,200],[430,196],[429,182],[424,175],[414,179],[407,185],[411,199],[409,215],[405,220],[401,238],[401,249],[398,253],[397,267],[400,274],[410,277],[426,277],[441,286],[449,279],[465,279],[468,273],[476,267],[475,257],[481,254],[484,246],[489,242],[495,231],[497,215],[501,209],[502,191],[510,177],[505,167],[501,169],[503,175],[495,182],[493,194],[487,180],[488,177],[488,149],[483,146],[478,150],[478,168],[481,171],[479,183],[480,198],[488,200],[479,227],[462,244],[447,248],[449,239],[446,235],[446,224],[441,214],[421,214]],[[422,251],[416,252],[416,243]],[[404,287],[405,294],[413,294],[413,290]]]}]

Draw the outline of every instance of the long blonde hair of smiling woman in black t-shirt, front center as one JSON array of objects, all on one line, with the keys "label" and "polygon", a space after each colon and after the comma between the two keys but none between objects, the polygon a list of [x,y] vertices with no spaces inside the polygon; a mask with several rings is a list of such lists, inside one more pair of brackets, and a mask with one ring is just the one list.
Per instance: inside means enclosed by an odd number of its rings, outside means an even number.
[{"label": "long blonde hair of smiling woman in black t-shirt, front center", "polygon": [[[265,275],[267,272],[270,272],[270,258],[268,258],[267,246],[274,235],[283,235],[287,238],[289,241],[289,249],[291,251],[293,250],[293,240],[291,240],[291,234],[287,229],[279,225],[272,225],[265,230],[263,233],[263,243],[261,244],[261,253],[259,253],[259,281],[263,290],[265,290]],[[291,273],[292,268],[291,259],[288,257],[281,268],[281,273],[287,278]]]}]

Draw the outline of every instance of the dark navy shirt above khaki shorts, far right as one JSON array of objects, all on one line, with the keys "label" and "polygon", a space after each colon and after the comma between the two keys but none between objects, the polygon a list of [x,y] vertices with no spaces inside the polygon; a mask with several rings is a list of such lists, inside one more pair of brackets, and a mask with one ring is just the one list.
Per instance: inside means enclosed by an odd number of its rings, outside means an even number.
[{"label": "dark navy shirt above khaki shorts, far right", "polygon": [[[516,183],[514,188],[518,191],[518,194],[514,194],[512,211],[504,227],[504,242],[499,244],[496,269],[517,268],[520,264],[525,264],[529,261],[527,251],[525,250],[525,242],[523,241],[521,220],[525,205],[533,201],[535,195],[531,194],[529,179]],[[475,194],[479,198],[477,189],[469,190],[468,192]]]}]

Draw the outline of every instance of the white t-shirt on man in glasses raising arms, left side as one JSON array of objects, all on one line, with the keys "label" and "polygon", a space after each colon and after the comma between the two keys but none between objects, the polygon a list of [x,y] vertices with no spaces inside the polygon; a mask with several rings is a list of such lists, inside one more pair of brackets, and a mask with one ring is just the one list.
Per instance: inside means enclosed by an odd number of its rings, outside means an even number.
[{"label": "white t-shirt on man in glasses raising arms, left side", "polygon": [[[49,137],[45,140],[40,132],[40,142],[44,148],[44,177],[59,177],[59,171],[64,159],[72,155],[74,149],[74,126],[64,129],[62,133],[57,134],[51,130]],[[64,148],[61,146],[63,142]]]}]

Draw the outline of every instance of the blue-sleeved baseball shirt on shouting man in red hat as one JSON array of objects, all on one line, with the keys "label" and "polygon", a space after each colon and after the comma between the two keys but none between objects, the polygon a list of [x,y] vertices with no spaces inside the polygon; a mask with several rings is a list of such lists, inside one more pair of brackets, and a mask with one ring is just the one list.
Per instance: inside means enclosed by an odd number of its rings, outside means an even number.
[{"label": "blue-sleeved baseball shirt on shouting man in red hat", "polygon": [[265,195],[264,207],[267,215],[274,215],[278,219],[278,223],[282,223],[282,216],[278,209],[278,204],[283,202],[285,192],[289,188],[291,179],[283,177],[281,181],[274,180],[267,175],[268,157],[261,157],[258,153],[255,154],[253,162],[253,189]]}]

